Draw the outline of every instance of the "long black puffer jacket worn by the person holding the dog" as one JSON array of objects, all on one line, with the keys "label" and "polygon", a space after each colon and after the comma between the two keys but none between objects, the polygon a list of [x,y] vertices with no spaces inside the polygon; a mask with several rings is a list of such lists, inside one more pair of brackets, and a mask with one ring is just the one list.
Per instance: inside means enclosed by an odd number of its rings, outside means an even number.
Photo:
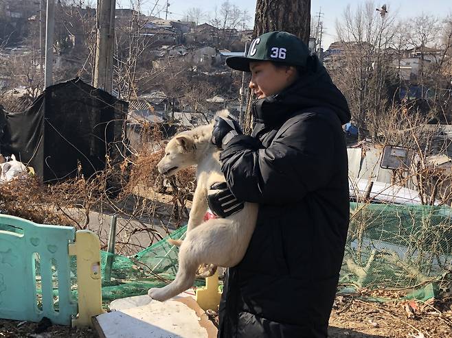
[{"label": "long black puffer jacket worn by the person holding the dog", "polygon": [[231,191],[260,206],[226,278],[218,337],[327,337],[349,221],[348,105],[318,66],[253,113],[252,136],[221,153]]}]

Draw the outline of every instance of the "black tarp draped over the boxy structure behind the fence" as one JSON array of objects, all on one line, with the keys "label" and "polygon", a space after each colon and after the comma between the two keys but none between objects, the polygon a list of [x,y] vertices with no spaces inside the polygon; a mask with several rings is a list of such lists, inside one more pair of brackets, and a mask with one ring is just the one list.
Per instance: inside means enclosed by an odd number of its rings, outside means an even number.
[{"label": "black tarp draped over the boxy structure behind the fence", "polygon": [[0,152],[33,167],[43,182],[74,177],[79,161],[89,177],[105,168],[106,154],[119,157],[126,113],[125,101],[79,78],[55,84],[25,112],[4,113]]}]

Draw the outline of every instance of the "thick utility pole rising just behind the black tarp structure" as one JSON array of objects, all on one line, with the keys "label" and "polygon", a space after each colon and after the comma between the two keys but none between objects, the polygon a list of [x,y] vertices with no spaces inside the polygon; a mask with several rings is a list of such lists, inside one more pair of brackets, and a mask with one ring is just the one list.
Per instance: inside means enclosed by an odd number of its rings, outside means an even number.
[{"label": "thick utility pole rising just behind the black tarp structure", "polygon": [[98,0],[93,86],[111,93],[115,44],[115,0]]}]

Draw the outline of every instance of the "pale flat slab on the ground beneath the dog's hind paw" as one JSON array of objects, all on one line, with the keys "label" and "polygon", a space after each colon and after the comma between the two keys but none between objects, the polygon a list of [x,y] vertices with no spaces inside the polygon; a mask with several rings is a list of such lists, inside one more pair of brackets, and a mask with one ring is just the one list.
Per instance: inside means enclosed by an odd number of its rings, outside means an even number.
[{"label": "pale flat slab on the ground beneath the dog's hind paw", "polygon": [[110,313],[93,319],[102,338],[214,338],[217,330],[186,293],[158,302],[147,295],[111,302]]}]

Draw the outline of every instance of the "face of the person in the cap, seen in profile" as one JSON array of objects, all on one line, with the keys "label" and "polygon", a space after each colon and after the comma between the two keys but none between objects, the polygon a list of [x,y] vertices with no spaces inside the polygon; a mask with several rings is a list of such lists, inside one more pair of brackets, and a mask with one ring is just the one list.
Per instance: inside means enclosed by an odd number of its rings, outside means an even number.
[{"label": "face of the person in the cap, seen in profile", "polygon": [[297,77],[295,67],[275,67],[270,61],[250,62],[251,81],[249,88],[258,99],[280,93]]}]

